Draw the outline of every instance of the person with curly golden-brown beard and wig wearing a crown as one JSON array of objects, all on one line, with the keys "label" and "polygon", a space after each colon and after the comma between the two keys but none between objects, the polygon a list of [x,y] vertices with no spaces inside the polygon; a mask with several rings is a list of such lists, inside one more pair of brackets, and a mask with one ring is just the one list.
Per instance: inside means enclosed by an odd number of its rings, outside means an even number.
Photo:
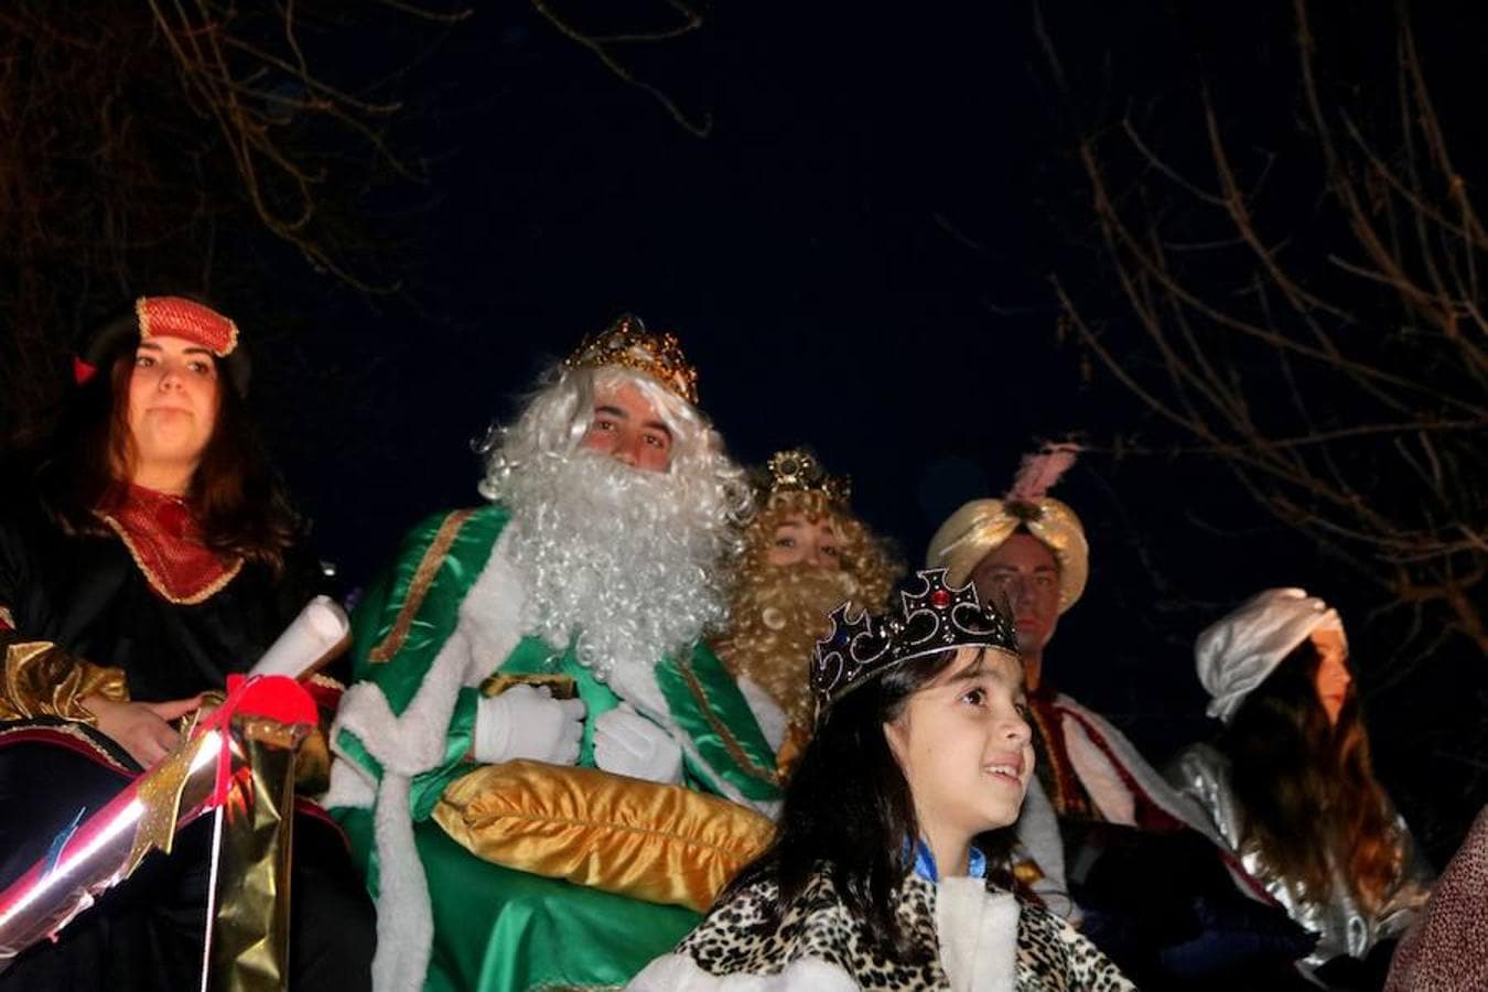
[{"label": "person with curly golden-brown beard and wig wearing a crown", "polygon": [[815,715],[806,662],[844,601],[879,611],[899,577],[882,540],[853,513],[851,480],[801,448],[778,451],[759,476],[759,512],[713,650],[740,680],[760,729],[789,769]]}]

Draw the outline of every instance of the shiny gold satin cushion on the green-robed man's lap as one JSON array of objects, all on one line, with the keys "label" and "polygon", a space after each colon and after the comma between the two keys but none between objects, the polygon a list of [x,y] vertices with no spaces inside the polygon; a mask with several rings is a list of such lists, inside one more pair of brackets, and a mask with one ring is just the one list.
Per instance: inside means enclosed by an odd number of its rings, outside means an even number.
[{"label": "shiny gold satin cushion on the green-robed man's lap", "polygon": [[699,912],[775,830],[751,809],[680,785],[539,761],[455,779],[434,819],[494,864]]}]

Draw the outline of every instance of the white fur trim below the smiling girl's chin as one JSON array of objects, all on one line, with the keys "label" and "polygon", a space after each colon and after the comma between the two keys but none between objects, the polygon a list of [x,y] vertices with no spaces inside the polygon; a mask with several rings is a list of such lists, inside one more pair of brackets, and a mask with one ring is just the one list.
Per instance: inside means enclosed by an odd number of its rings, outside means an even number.
[{"label": "white fur trim below the smiling girl's chin", "polygon": [[1013,992],[1018,980],[1018,900],[988,892],[982,879],[936,885],[934,927],[951,992]]}]

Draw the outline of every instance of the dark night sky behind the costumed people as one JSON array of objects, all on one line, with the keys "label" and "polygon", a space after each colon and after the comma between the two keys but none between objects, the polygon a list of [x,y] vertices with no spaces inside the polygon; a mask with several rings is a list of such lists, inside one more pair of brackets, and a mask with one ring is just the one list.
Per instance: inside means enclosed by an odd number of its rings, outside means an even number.
[{"label": "dark night sky behind the costumed people", "polygon": [[[1109,280],[1086,250],[1071,122],[1171,97],[1195,65],[1265,104],[1293,58],[1289,4],[1228,21],[1048,4],[1085,95],[1073,107],[1028,4],[811,7],[719,4],[704,30],[623,54],[711,117],[705,138],[527,4],[481,4],[449,30],[403,83],[397,137],[430,156],[430,181],[373,217],[403,232],[406,292],[286,277],[296,320],[265,333],[254,385],[275,458],[354,587],[415,521],[478,498],[470,440],[622,311],[682,338],[735,457],[812,445],[911,565],[955,506],[1001,494],[1022,452],[1073,433],[1097,451],[1056,495],[1085,519],[1092,580],[1046,671],[1161,761],[1211,730],[1190,650],[1229,604],[1305,584],[1350,619],[1360,598],[1222,470],[1103,451],[1144,421],[1056,335],[1049,274]],[[1366,693],[1390,650],[1356,638]],[[1466,665],[1369,702],[1376,761],[1402,806],[1439,818],[1437,854],[1482,790],[1442,799],[1464,775],[1452,754],[1408,781],[1418,724],[1390,714],[1445,678],[1470,692],[1437,723],[1481,721],[1481,659]]]}]

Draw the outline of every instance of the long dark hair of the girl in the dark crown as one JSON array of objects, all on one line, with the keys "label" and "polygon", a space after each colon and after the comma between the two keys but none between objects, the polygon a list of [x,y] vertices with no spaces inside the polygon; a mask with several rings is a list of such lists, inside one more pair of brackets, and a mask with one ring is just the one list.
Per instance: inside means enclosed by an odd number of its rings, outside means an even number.
[{"label": "long dark hair of the girl in the dark crown", "polygon": [[[774,910],[762,921],[762,928],[774,928],[812,876],[826,872],[848,915],[866,924],[876,949],[914,964],[934,956],[933,946],[917,944],[903,931],[896,913],[900,885],[914,867],[920,824],[884,724],[897,720],[909,696],[955,657],[951,650],[905,662],[826,712],[786,785],[774,843],[740,872],[720,903],[759,882],[775,882]],[[1006,863],[1010,834],[991,831],[978,837],[978,846],[990,864]]]}]

